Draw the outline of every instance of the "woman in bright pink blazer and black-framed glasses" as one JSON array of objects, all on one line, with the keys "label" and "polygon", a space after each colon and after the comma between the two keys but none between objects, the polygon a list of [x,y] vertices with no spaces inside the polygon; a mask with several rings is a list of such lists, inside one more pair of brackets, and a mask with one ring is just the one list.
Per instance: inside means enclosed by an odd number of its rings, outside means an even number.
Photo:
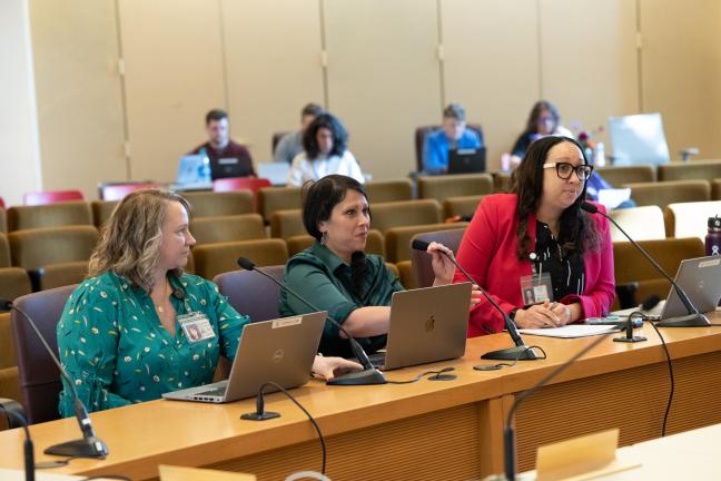
[{"label": "woman in bright pink blazer and black-framed glasses", "polygon": [[[536,140],[513,173],[511,194],[484,197],[461,242],[458,263],[520,327],[561,326],[611,308],[609,223],[581,209],[592,173],[574,139]],[[456,273],[454,281],[464,278]],[[487,301],[471,312],[470,336],[503,328]]]}]

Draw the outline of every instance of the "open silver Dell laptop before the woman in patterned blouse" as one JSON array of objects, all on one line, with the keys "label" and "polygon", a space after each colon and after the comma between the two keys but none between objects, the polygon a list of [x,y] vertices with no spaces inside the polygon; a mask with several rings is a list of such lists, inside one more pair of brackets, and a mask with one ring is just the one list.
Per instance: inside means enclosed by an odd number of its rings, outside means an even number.
[{"label": "open silver Dell laptop before the woman in patterned blouse", "polygon": [[[258,393],[273,381],[290,389],[310,377],[326,312],[247,324],[226,381],[162,394],[179,401],[225,403]],[[277,391],[268,386],[264,392]]]}]

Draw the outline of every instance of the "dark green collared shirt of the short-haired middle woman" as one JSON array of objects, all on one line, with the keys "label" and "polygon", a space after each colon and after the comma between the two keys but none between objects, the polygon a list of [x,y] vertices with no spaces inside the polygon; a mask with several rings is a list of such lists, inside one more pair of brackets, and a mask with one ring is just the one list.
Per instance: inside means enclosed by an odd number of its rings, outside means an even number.
[{"label": "dark green collared shirt of the short-haired middle woman", "polygon": [[[359,307],[389,306],[393,293],[404,289],[383,257],[368,255],[366,266],[358,295],[353,288],[350,266],[320,243],[315,243],[287,262],[284,281],[300,296],[320,311],[327,311],[330,317],[343,324]],[[279,311],[283,316],[312,312],[286,291],[280,291]],[[357,341],[366,352],[375,352],[385,345],[386,336],[362,337]],[[339,336],[338,327],[330,322],[325,324],[318,351],[325,355],[353,355],[348,341]]]}]

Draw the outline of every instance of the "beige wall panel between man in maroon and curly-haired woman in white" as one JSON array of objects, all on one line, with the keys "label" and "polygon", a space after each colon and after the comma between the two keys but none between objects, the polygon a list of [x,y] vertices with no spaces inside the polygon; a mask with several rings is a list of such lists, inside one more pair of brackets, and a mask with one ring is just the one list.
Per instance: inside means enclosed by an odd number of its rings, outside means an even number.
[{"label": "beige wall panel between man in maroon and curly-haired woman in white", "polygon": [[223,0],[228,104],[256,163],[276,131],[297,130],[300,109],[324,104],[320,0]]}]

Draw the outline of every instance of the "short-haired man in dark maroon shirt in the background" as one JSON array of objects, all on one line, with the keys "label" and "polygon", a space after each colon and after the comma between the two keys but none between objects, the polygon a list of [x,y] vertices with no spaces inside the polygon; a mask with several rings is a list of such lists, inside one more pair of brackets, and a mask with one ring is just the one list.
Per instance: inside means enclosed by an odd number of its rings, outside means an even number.
[{"label": "short-haired man in dark maroon shirt in the background", "polygon": [[196,147],[190,154],[208,156],[214,180],[226,177],[255,177],[250,153],[245,146],[230,140],[228,130],[228,114],[219,109],[210,110],[206,114],[208,141]]}]

